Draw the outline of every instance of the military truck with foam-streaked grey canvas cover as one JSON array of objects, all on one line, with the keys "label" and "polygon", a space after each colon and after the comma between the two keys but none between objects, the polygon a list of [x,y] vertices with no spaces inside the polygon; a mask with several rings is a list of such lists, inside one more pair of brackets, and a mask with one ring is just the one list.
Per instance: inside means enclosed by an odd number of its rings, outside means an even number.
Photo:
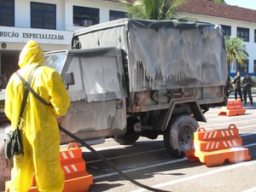
[{"label": "military truck with foam-streaked grey canvas cover", "polygon": [[[197,121],[225,104],[227,78],[221,26],[200,22],[113,20],[80,29],[72,49],[45,54],[68,86],[61,125],[95,143],[164,136],[183,157]],[[67,143],[69,137],[61,136]]]}]

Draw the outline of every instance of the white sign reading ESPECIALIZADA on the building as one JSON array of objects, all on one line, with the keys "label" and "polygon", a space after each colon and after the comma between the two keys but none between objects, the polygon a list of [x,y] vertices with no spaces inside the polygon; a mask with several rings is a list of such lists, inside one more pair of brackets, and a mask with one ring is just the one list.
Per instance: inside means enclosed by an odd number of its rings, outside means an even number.
[{"label": "white sign reading ESPECIALIZADA on the building", "polygon": [[73,32],[0,26],[0,42],[24,43],[30,39],[40,44],[70,45]]}]

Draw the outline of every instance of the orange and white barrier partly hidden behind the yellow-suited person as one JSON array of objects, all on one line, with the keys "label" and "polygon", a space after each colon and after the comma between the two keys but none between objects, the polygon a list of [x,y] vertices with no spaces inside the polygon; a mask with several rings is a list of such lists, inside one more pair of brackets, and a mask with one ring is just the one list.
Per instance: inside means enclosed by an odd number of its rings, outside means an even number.
[{"label": "orange and white barrier partly hidden behind the yellow-suited person", "polygon": [[[93,184],[93,179],[92,175],[86,172],[82,148],[79,148],[78,143],[69,143],[66,149],[61,150],[60,159],[62,170],[65,173],[63,192],[88,191],[90,185]],[[29,192],[38,192],[35,182]]]}]

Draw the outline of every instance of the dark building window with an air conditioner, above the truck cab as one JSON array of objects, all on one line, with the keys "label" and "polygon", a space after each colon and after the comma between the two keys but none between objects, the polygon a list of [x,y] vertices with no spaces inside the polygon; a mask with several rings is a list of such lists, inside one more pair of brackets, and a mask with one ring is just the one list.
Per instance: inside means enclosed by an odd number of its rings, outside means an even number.
[{"label": "dark building window with an air conditioner, above the truck cab", "polygon": [[96,25],[100,21],[100,9],[73,6],[73,24],[79,26]]}]

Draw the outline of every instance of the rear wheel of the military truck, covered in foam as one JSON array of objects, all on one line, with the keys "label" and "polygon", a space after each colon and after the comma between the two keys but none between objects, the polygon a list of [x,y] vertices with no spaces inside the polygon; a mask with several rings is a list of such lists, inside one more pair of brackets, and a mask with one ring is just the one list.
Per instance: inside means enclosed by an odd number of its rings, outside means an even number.
[{"label": "rear wheel of the military truck, covered in foam", "polygon": [[173,117],[164,132],[166,150],[178,158],[183,158],[186,150],[191,148],[194,132],[198,127],[196,119],[187,114]]}]

